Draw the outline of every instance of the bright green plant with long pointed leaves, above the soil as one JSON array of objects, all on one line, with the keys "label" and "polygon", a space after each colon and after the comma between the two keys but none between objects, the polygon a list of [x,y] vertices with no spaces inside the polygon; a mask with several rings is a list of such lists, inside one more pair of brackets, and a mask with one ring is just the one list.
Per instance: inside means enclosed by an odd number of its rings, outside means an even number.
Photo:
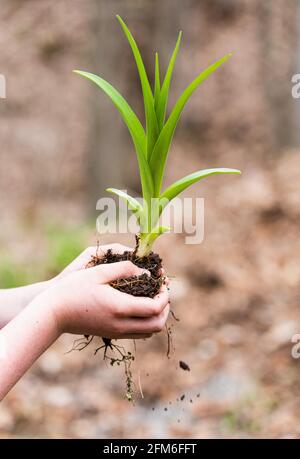
[{"label": "bright green plant with long pointed leaves, above the soil", "polygon": [[159,58],[156,53],[155,84],[154,90],[152,90],[138,46],[124,21],[120,16],[117,16],[117,18],[131,46],[137,65],[142,86],[146,128],[142,126],[139,118],[124,97],[110,83],[89,72],[80,70],[74,70],[74,72],[93,81],[110,97],[119,110],[131,134],[139,164],[143,195],[142,203],[132,196],[129,196],[124,191],[115,188],[108,188],[107,191],[125,199],[129,208],[134,212],[140,227],[137,255],[142,257],[151,252],[152,245],[156,238],[169,230],[169,228],[159,225],[159,218],[166,205],[172,199],[193,183],[210,175],[240,174],[240,171],[237,169],[214,168],[200,170],[181,178],[162,191],[162,182],[168,152],[185,104],[197,87],[218,67],[226,62],[231,57],[231,54],[226,54],[222,59],[210,65],[200,73],[200,75],[198,75],[183,91],[170,115],[166,118],[169,88],[182,34],[181,32],[179,33],[163,81],[161,81]]}]

